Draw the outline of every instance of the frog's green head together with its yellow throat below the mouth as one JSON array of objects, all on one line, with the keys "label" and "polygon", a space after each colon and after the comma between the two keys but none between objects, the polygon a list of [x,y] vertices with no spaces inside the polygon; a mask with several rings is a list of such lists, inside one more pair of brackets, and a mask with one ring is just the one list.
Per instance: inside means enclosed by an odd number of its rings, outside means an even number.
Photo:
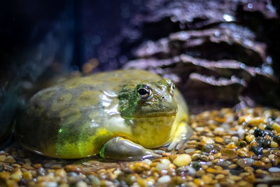
[{"label": "frog's green head together with its yellow throat below the mouth", "polygon": [[172,81],[165,78],[157,82],[125,85],[118,99],[120,115],[132,127],[135,143],[154,148],[170,140],[176,128],[177,113]]}]

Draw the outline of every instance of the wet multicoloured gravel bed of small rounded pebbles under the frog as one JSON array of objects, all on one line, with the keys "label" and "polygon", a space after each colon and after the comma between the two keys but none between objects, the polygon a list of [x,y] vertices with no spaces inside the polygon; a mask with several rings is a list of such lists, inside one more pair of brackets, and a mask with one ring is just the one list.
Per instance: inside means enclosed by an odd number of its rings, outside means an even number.
[{"label": "wet multicoloured gravel bed of small rounded pebbles under the frog", "polygon": [[279,186],[280,111],[204,111],[190,125],[190,140],[155,160],[55,160],[14,144],[0,151],[0,186]]}]

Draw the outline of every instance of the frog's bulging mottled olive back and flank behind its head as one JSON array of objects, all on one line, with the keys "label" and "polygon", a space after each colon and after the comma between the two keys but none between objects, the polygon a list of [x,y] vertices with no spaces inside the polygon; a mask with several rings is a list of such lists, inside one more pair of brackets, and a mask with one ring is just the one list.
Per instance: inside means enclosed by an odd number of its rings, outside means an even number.
[{"label": "frog's bulging mottled olive back and flank behind its head", "polygon": [[[41,90],[30,99],[18,121],[16,137],[22,145],[43,155],[57,158],[94,155],[103,141],[114,135],[104,124],[109,111],[118,113],[122,86],[158,80],[160,76],[148,71],[119,70],[72,78]],[[93,145],[93,141],[98,144]],[[87,142],[88,146],[79,146]],[[71,153],[79,147],[83,150],[76,155]]]}]

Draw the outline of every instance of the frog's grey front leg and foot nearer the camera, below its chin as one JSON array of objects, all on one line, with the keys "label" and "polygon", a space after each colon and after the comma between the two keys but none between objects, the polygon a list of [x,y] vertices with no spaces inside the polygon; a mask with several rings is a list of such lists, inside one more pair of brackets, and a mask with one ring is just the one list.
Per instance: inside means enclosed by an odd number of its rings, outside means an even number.
[{"label": "frog's grey front leg and foot nearer the camera, below its chin", "polygon": [[151,150],[135,144],[122,137],[115,137],[104,144],[99,155],[103,158],[117,160],[141,160],[145,158],[160,158],[165,151]]}]

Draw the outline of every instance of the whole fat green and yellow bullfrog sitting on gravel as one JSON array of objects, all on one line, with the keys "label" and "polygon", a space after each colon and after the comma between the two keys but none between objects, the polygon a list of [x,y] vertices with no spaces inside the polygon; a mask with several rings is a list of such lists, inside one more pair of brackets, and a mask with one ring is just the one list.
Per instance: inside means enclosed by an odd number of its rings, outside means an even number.
[{"label": "whole fat green and yellow bullfrog sitting on gravel", "polygon": [[190,134],[188,108],[168,78],[116,70],[71,78],[37,92],[15,125],[25,148],[52,158],[139,160],[180,148]]}]

